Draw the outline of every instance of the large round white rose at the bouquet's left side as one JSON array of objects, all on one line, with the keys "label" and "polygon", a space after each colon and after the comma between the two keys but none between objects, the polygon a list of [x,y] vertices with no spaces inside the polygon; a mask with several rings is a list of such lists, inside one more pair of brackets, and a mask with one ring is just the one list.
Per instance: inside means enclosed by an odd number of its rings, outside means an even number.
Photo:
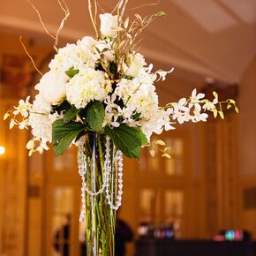
[{"label": "large round white rose at the bouquet's left side", "polygon": [[68,76],[64,72],[49,71],[34,88],[46,102],[57,104],[64,100],[67,80]]}]

